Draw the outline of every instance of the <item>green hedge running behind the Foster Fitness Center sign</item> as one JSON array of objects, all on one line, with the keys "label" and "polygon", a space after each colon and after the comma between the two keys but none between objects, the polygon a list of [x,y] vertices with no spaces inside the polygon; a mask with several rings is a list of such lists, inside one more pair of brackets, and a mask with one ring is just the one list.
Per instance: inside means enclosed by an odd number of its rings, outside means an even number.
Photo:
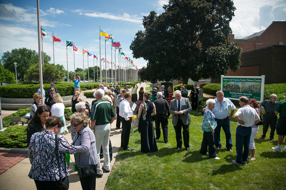
[{"label": "green hedge running behind the Foster Fitness Center sign", "polygon": [[[216,92],[220,90],[220,84],[207,84],[203,87],[204,93],[216,96]],[[265,84],[264,85],[264,100],[270,99],[271,94],[276,94],[277,101],[284,100],[286,93],[286,83]],[[234,100],[235,101],[235,100]],[[237,100],[238,101],[238,100]]]}]

